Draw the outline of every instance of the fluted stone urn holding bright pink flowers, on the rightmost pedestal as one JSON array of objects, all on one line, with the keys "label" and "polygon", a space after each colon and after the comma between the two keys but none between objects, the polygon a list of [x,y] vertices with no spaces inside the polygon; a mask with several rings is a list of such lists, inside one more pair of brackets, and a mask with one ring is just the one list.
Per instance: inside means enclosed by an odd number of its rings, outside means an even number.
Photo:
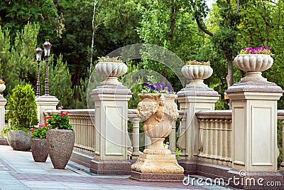
[{"label": "fluted stone urn holding bright pink flowers, on the rightmost pedestal", "polygon": [[234,58],[236,66],[246,71],[246,77],[241,81],[266,81],[261,72],[271,68],[273,58],[266,54],[240,54]]}]

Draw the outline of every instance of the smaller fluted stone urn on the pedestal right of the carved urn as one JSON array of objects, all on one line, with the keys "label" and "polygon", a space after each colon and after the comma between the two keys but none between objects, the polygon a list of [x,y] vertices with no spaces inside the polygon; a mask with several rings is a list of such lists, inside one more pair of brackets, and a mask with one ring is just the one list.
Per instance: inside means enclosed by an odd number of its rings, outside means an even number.
[{"label": "smaller fluted stone urn on the pedestal right of the carved urn", "polygon": [[204,79],[209,78],[213,69],[209,65],[184,65],[182,75],[191,80],[187,87],[207,87],[203,83]]}]

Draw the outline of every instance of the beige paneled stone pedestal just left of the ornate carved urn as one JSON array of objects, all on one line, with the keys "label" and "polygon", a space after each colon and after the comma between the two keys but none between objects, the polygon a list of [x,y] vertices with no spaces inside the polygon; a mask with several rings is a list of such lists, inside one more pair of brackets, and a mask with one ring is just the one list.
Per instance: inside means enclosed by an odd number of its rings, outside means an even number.
[{"label": "beige paneled stone pedestal just left of the ornate carved urn", "polygon": [[[123,162],[127,159],[127,149],[131,146],[127,131],[131,90],[121,83],[103,83],[92,90],[90,95],[94,99],[94,125],[97,130],[95,159],[91,161],[91,171],[97,174],[124,174],[126,167],[119,167],[119,164],[125,164]],[[111,164],[114,162],[115,164]],[[129,172],[131,163],[126,165]]]}]

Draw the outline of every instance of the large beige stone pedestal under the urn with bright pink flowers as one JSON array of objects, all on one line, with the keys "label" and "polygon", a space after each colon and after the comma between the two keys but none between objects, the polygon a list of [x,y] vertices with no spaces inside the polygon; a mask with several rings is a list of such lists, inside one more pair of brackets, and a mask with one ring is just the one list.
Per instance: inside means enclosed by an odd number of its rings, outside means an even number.
[{"label": "large beige stone pedestal under the urn with bright pink flowers", "polygon": [[277,172],[277,100],[283,90],[274,83],[248,81],[232,85],[226,95],[232,107],[232,168],[246,172],[247,178],[262,176],[283,184]]}]

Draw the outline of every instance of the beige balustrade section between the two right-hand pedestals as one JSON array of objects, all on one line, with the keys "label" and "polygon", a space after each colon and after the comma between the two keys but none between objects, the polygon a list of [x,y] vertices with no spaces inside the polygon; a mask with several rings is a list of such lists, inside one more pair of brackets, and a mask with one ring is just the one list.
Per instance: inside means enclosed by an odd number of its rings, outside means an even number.
[{"label": "beige balustrade section between the two right-hand pedestals", "polygon": [[200,161],[231,166],[231,110],[201,111],[199,122]]}]

